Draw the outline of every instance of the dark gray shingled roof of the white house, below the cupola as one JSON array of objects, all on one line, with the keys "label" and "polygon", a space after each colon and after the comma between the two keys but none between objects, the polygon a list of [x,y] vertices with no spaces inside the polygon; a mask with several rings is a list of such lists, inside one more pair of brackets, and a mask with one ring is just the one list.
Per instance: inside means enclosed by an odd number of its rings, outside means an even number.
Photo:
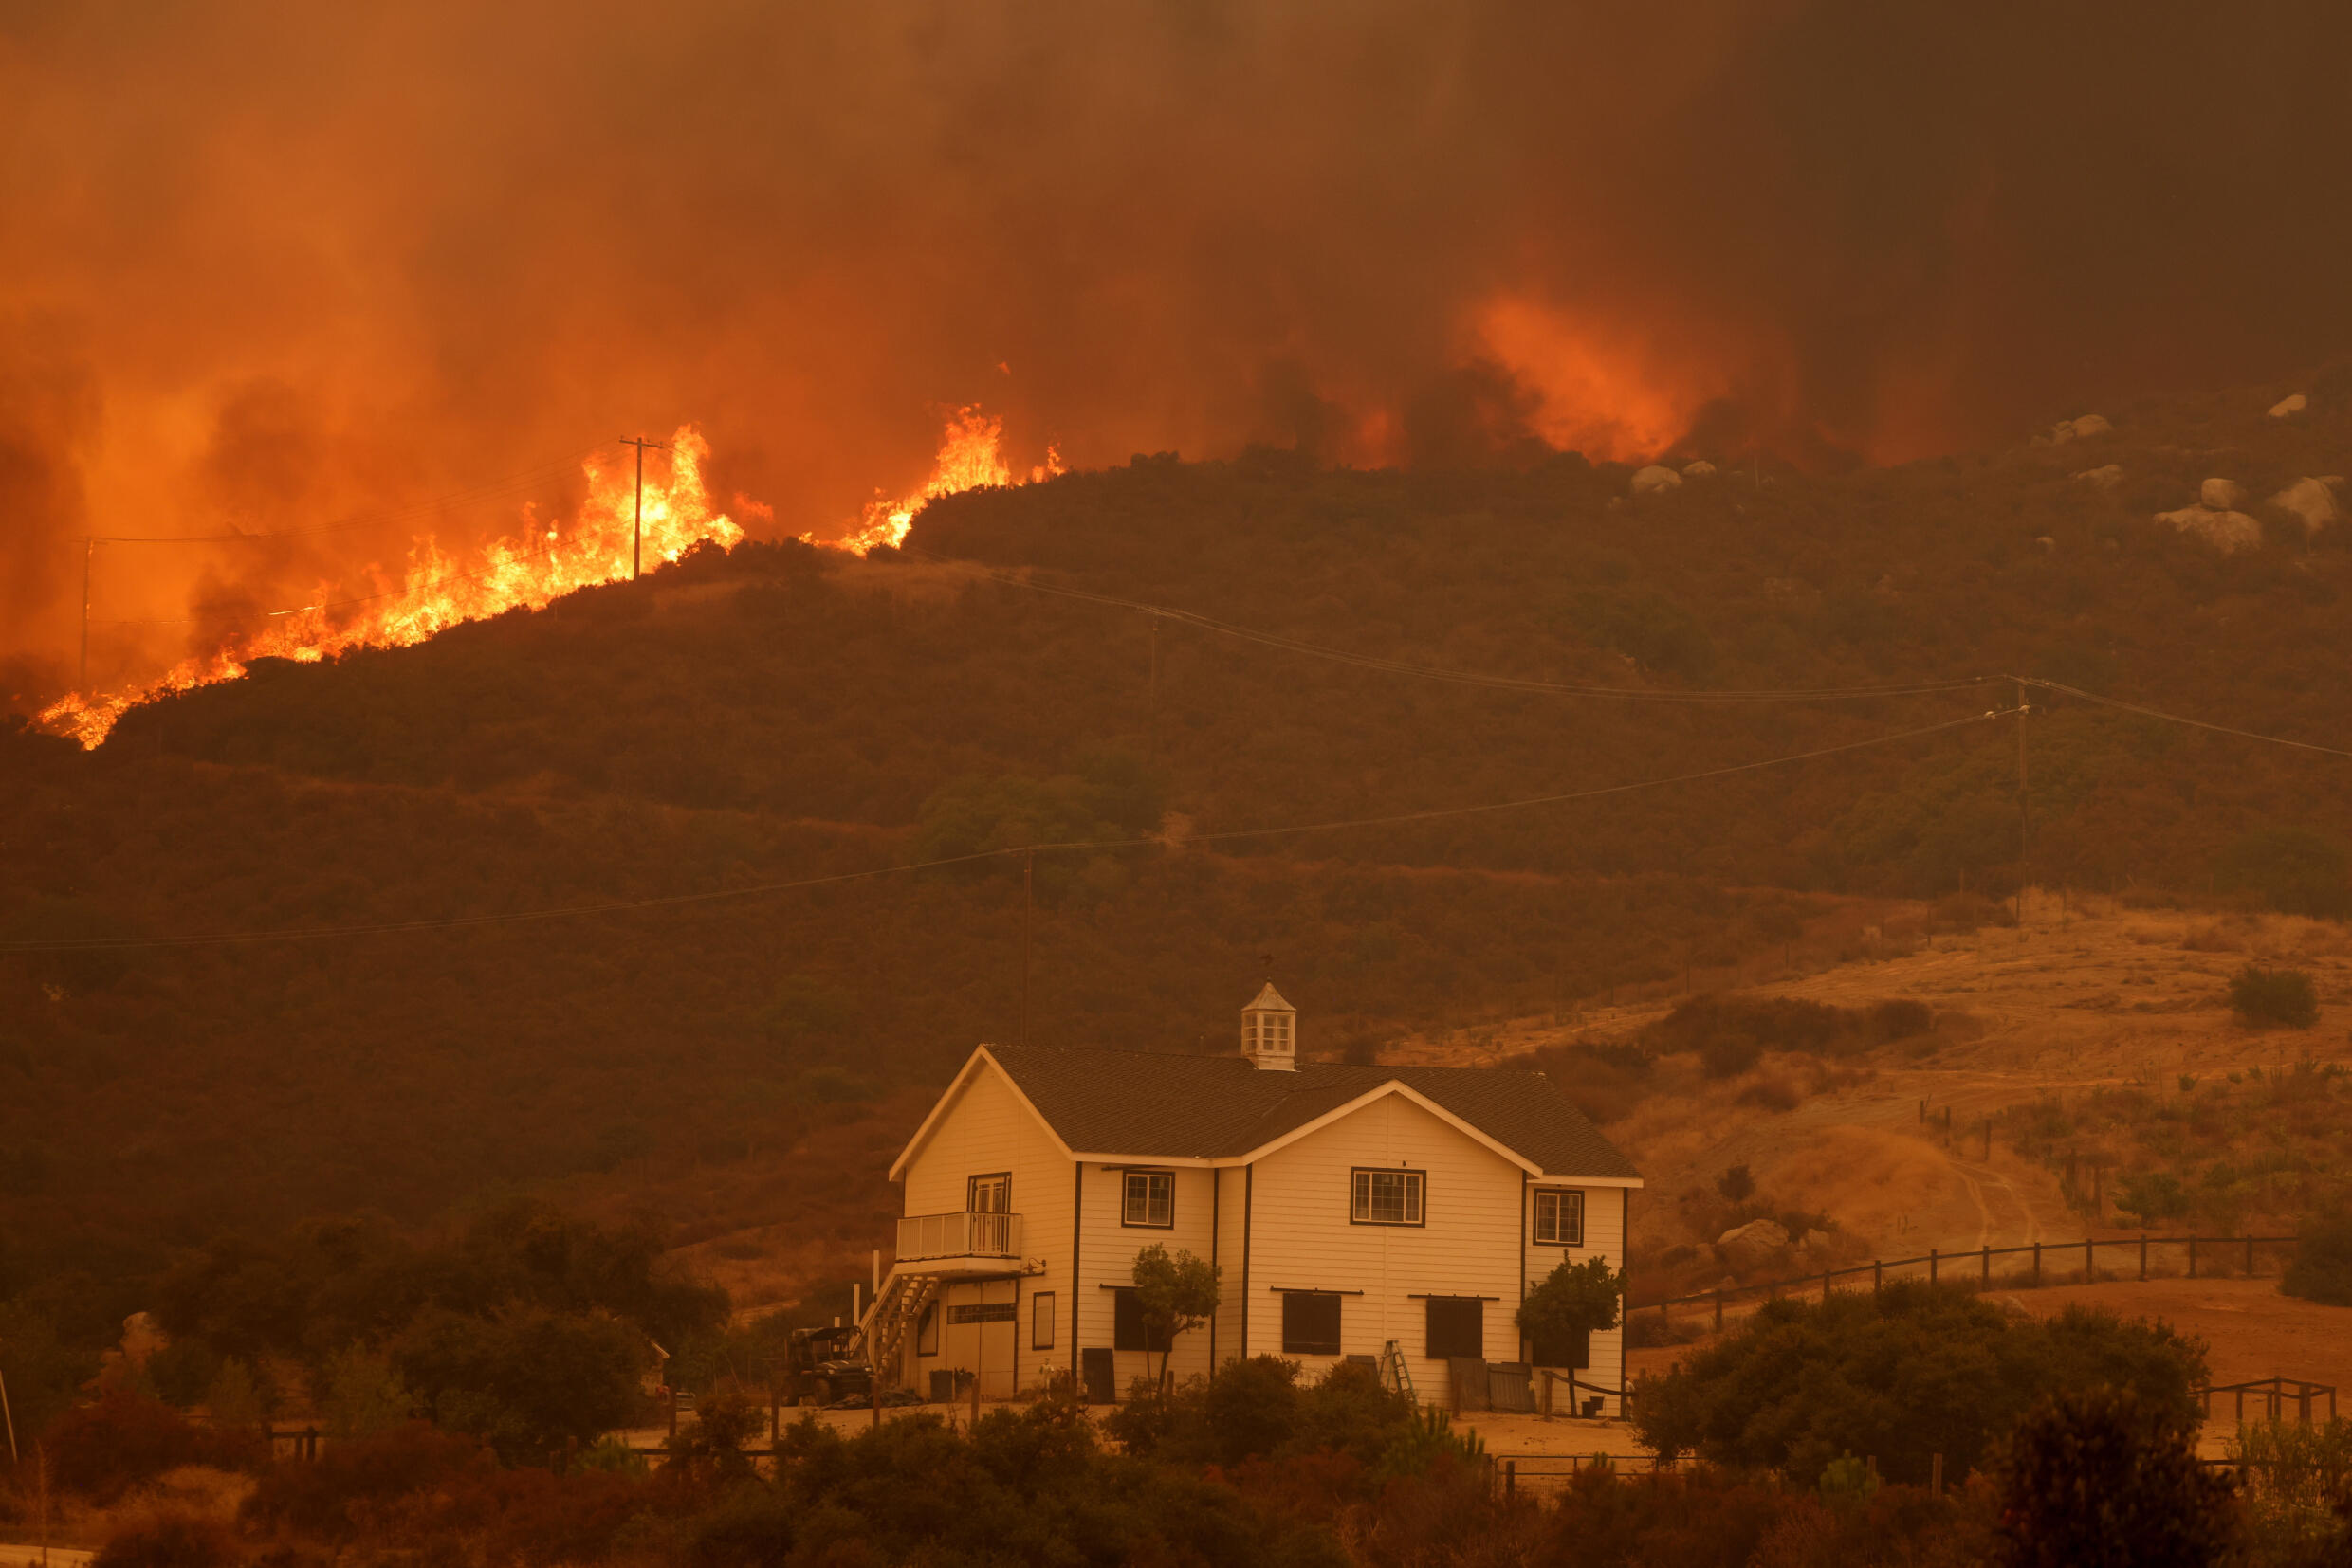
[{"label": "dark gray shingled roof of the white house, below the cupola", "polygon": [[988,1046],[1065,1145],[1084,1154],[1230,1159],[1381,1084],[1404,1084],[1543,1166],[1545,1175],[1639,1171],[1541,1072],[1503,1067],[1251,1067],[1240,1056]]}]

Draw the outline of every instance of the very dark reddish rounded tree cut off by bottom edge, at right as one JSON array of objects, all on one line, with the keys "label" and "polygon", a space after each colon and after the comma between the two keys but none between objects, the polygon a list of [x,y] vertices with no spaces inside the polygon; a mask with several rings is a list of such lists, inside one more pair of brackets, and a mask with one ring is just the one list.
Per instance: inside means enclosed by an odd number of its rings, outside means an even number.
[{"label": "very dark reddish rounded tree cut off by bottom edge, at right", "polygon": [[2230,1547],[2230,1481],[2194,1425],[2131,1389],[2042,1399],[1997,1462],[2009,1568],[2204,1568]]}]

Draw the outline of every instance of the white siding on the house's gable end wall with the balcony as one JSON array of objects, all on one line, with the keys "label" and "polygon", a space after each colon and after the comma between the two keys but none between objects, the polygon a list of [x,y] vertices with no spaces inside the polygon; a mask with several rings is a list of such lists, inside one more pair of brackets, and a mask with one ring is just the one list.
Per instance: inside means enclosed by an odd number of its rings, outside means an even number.
[{"label": "white siding on the house's gable end wall with the balcony", "polygon": [[[995,1067],[983,1065],[955,1091],[955,1103],[931,1128],[929,1143],[906,1166],[901,1213],[957,1213],[969,1180],[1007,1171],[1014,1178],[1011,1211],[1021,1215],[1021,1255],[1044,1262],[1042,1274],[983,1286],[955,1284],[941,1291],[938,1354],[910,1352],[908,1385],[929,1394],[931,1373],[978,1368],[981,1392],[1002,1399],[1035,1385],[1044,1363],[1070,1366],[1070,1159],[1014,1095]],[[1014,1265],[1018,1267],[1018,1265]],[[1054,1349],[1030,1349],[1030,1295],[1054,1293]],[[1014,1302],[1014,1324],[948,1324],[948,1309],[967,1302]],[[983,1340],[985,1331],[985,1340]],[[913,1335],[908,1335],[913,1345]]]}]

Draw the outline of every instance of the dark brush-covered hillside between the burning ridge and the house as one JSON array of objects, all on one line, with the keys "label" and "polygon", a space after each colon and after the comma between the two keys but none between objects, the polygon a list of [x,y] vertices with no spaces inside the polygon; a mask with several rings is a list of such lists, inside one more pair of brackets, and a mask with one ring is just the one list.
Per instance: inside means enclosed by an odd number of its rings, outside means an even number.
[{"label": "dark brush-covered hillside between the burning ridge and the house", "polygon": [[[760,1246],[793,1262],[760,1288],[790,1295],[873,1246],[887,1150],[974,1039],[1218,1048],[1270,954],[1310,1048],[1376,1051],[1740,959],[1820,966],[1867,900],[2006,893],[2016,719],[1573,804],[1209,837],[1811,752],[2006,708],[2006,686],[1653,705],[1176,621],[1155,656],[1141,611],[988,574],[1491,675],[1700,693],[2030,672],[2340,741],[2343,529],[2305,541],[2251,501],[2270,543],[2225,557],[2150,522],[2206,475],[2265,496],[2352,468],[2340,397],[2267,421],[2272,395],[1665,496],[1573,454],[1486,473],[1138,458],[941,501],[920,555],[703,552],[416,649],[266,665],[132,712],[99,752],[7,736],[14,940],[1138,846],[1037,858],[1025,1020],[1018,858],[555,922],[9,957],[0,1295],[87,1269],[120,1281],[89,1298],[103,1316],[223,1225],[426,1222],[517,1187],[649,1206],[684,1241],[771,1227]],[[2119,487],[2072,477],[2103,463]],[[2044,886],[2345,907],[2343,759],[2037,705]]]}]

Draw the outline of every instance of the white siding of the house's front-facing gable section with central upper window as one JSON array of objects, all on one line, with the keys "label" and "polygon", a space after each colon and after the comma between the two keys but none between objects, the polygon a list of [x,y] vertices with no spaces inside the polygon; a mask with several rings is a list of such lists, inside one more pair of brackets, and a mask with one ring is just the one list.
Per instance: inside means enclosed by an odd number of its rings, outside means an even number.
[{"label": "white siding of the house's front-facing gable section with central upper window", "polygon": [[[1357,1166],[1428,1173],[1423,1225],[1350,1222]],[[1395,1340],[1425,1401],[1446,1399],[1446,1366],[1425,1352],[1425,1295],[1486,1295],[1486,1359],[1517,1359],[1519,1166],[1402,1095],[1258,1159],[1249,1244],[1249,1349],[1282,1354],[1282,1295],[1362,1291],[1341,1300],[1341,1354]],[[1310,1371],[1334,1356],[1294,1356]]]}]

